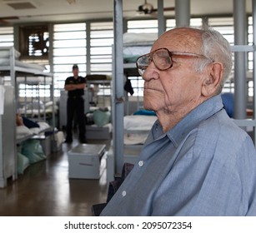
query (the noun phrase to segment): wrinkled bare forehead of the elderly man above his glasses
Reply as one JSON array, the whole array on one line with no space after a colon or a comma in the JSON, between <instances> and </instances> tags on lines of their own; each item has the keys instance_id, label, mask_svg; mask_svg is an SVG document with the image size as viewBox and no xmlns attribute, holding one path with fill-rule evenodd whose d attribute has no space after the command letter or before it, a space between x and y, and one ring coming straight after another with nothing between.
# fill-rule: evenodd
<instances>
[{"instance_id":1,"label":"wrinkled bare forehead of the elderly man above his glasses","mask_svg":"<svg viewBox=\"0 0 256 233\"><path fill-rule=\"evenodd\" d=\"M170 51L200 53L202 32L199 29L180 27L164 32L153 43L151 51L167 47Z\"/></svg>"}]
</instances>

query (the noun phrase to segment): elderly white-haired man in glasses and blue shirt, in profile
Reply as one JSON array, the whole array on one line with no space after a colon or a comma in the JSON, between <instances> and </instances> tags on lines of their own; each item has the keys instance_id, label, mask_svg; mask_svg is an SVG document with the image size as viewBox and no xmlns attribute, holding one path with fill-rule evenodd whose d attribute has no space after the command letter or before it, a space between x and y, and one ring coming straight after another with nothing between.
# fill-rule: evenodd
<instances>
[{"instance_id":1,"label":"elderly white-haired man in glasses and blue shirt, in profile","mask_svg":"<svg viewBox=\"0 0 256 233\"><path fill-rule=\"evenodd\" d=\"M178 27L137 67L158 121L102 216L256 216L255 147L220 97L228 42L207 27Z\"/></svg>"}]
</instances>

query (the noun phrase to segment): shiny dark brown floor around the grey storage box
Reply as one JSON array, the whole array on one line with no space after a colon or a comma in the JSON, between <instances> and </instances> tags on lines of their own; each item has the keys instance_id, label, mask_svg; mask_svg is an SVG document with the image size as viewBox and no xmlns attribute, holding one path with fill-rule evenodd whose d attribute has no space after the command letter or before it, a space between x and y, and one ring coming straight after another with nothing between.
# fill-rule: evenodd
<instances>
[{"instance_id":1,"label":"shiny dark brown floor around the grey storage box","mask_svg":"<svg viewBox=\"0 0 256 233\"><path fill-rule=\"evenodd\" d=\"M68 179L67 152L77 144L63 144L62 151L28 166L17 181L0 188L0 216L92 216L91 206L107 199L106 167L99 180Z\"/></svg>"}]
</instances>

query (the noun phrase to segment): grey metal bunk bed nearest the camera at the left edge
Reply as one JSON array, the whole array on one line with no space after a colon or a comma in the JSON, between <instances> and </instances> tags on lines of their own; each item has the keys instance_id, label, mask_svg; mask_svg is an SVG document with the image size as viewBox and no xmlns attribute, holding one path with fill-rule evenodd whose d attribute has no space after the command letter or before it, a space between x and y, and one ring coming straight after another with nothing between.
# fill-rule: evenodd
<instances>
[{"instance_id":1,"label":"grey metal bunk bed nearest the camera at the left edge","mask_svg":"<svg viewBox=\"0 0 256 233\"><path fill-rule=\"evenodd\" d=\"M24 77L26 80L52 77L52 74L43 72L44 67L42 66L19 61L19 55L14 47L0 47L0 86L5 90L3 91L4 101L2 102L3 115L0 116L0 187L7 186L9 177L13 177L13 180L18 178L18 143L33 138L42 131L52 130L51 126L44 126L42 131L34 131L29 135L17 137L18 83ZM53 78L51 80L53 87ZM53 90L51 90L51 97L54 102ZM55 124L54 114L52 122Z\"/></svg>"}]
</instances>

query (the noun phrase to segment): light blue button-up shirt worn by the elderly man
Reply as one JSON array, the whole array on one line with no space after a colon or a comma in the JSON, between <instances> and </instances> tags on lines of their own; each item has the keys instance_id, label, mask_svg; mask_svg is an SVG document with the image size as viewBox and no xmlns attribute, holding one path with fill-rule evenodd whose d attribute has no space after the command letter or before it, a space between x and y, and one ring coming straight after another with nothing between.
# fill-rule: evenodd
<instances>
[{"instance_id":1,"label":"light blue button-up shirt worn by the elderly man","mask_svg":"<svg viewBox=\"0 0 256 233\"><path fill-rule=\"evenodd\" d=\"M256 216L253 141L220 96L167 133L156 121L102 216Z\"/></svg>"}]
</instances>

